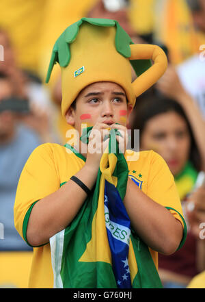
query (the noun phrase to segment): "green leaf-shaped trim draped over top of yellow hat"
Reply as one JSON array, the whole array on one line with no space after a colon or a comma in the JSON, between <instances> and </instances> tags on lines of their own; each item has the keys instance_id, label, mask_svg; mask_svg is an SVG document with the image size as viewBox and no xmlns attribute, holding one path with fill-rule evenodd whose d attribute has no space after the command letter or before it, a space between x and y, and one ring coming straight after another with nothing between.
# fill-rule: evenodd
<instances>
[{"instance_id":1,"label":"green leaf-shaped trim draped over top of yellow hat","mask_svg":"<svg viewBox=\"0 0 205 302\"><path fill-rule=\"evenodd\" d=\"M53 66L56 64L56 62L58 62L61 67L68 66L71 57L69 45L72 42L74 42L74 40L76 39L77 34L79 32L79 27L83 22L87 22L97 26L104 26L104 27L116 26L116 34L115 34L116 50L125 58L129 58L131 56L131 48L129 45L133 44L133 41L131 40L131 37L128 36L128 34L120 26L118 21L105 19L105 18L81 18L81 20L67 27L55 42L51 54L51 60L49 63L48 72L46 75L46 83L49 82L49 79L51 77L51 72L53 70ZM143 60L143 61L147 61L148 68L146 66L145 68L143 68L143 70L139 71L139 66L137 61L141 61L141 60L131 61L131 64L133 65L133 68L135 69L137 75L140 75L141 73L143 73L143 71L146 71L146 69L148 69L151 65L149 60ZM144 64L142 64L142 67L144 67Z\"/></svg>"}]
</instances>

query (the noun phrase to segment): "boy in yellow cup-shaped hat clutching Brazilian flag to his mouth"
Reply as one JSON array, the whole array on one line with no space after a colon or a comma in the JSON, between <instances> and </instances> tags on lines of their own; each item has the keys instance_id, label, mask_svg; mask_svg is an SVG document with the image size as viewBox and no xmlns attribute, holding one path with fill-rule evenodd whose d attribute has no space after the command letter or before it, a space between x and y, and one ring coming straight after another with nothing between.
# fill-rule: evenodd
<instances>
[{"instance_id":1,"label":"boy in yellow cup-shaped hat clutching Brazilian flag to his mouth","mask_svg":"<svg viewBox=\"0 0 205 302\"><path fill-rule=\"evenodd\" d=\"M14 220L34 247L29 286L161 287L157 252L185 238L180 199L161 156L124 149L135 99L163 75L165 54L133 45L116 21L82 18L55 43L46 81L55 62L76 136L42 144L20 176Z\"/></svg>"}]
</instances>

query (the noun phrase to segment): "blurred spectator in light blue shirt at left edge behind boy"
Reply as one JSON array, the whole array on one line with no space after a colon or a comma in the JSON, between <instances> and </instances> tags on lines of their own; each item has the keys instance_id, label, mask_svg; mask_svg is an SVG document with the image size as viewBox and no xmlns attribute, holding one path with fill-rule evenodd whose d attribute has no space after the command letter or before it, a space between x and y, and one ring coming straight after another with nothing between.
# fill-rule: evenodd
<instances>
[{"instance_id":1,"label":"blurred spectator in light blue shirt at left edge behind boy","mask_svg":"<svg viewBox=\"0 0 205 302\"><path fill-rule=\"evenodd\" d=\"M4 239L0 251L28 250L14 227L14 199L20 173L29 155L41 144L36 132L20 123L21 114L14 111L13 79L0 74L0 222ZM19 102L26 102L20 100Z\"/></svg>"}]
</instances>

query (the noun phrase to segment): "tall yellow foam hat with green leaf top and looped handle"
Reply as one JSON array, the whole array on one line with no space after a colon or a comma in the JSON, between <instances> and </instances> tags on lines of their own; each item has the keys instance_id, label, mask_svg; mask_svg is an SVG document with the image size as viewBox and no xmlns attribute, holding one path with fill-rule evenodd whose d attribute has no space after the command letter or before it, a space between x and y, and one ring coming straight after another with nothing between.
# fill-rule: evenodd
<instances>
[{"instance_id":1,"label":"tall yellow foam hat with green leaf top and looped handle","mask_svg":"<svg viewBox=\"0 0 205 302\"><path fill-rule=\"evenodd\" d=\"M117 21L100 18L81 18L61 34L53 47L46 82L56 62L61 66L64 116L79 92L98 81L122 86L128 103L134 106L136 97L150 88L167 68L167 58L160 47L134 45ZM137 74L133 83L131 66Z\"/></svg>"}]
</instances>

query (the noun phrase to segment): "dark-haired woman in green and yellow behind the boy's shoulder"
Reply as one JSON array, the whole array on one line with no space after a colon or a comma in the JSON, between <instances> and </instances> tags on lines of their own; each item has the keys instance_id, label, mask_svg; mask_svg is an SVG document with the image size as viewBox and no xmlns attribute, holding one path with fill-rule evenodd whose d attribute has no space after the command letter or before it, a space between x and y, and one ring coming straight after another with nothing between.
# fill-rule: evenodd
<instances>
[{"instance_id":1,"label":"dark-haired woman in green and yellow behind the boy's shoulder","mask_svg":"<svg viewBox=\"0 0 205 302\"><path fill-rule=\"evenodd\" d=\"M200 153L204 127L196 135L198 129L194 124L198 120L203 125L202 116L195 109L196 121L191 124L177 101L153 95L139 99L130 127L139 129L141 150L154 149L167 162L174 175L184 210L197 175L204 166ZM185 212L184 210L184 214ZM197 266L199 238L190 231L187 218L185 220L188 234L184 247L173 255L159 255L159 273L165 288L185 288L191 278L203 270Z\"/></svg>"}]
</instances>

